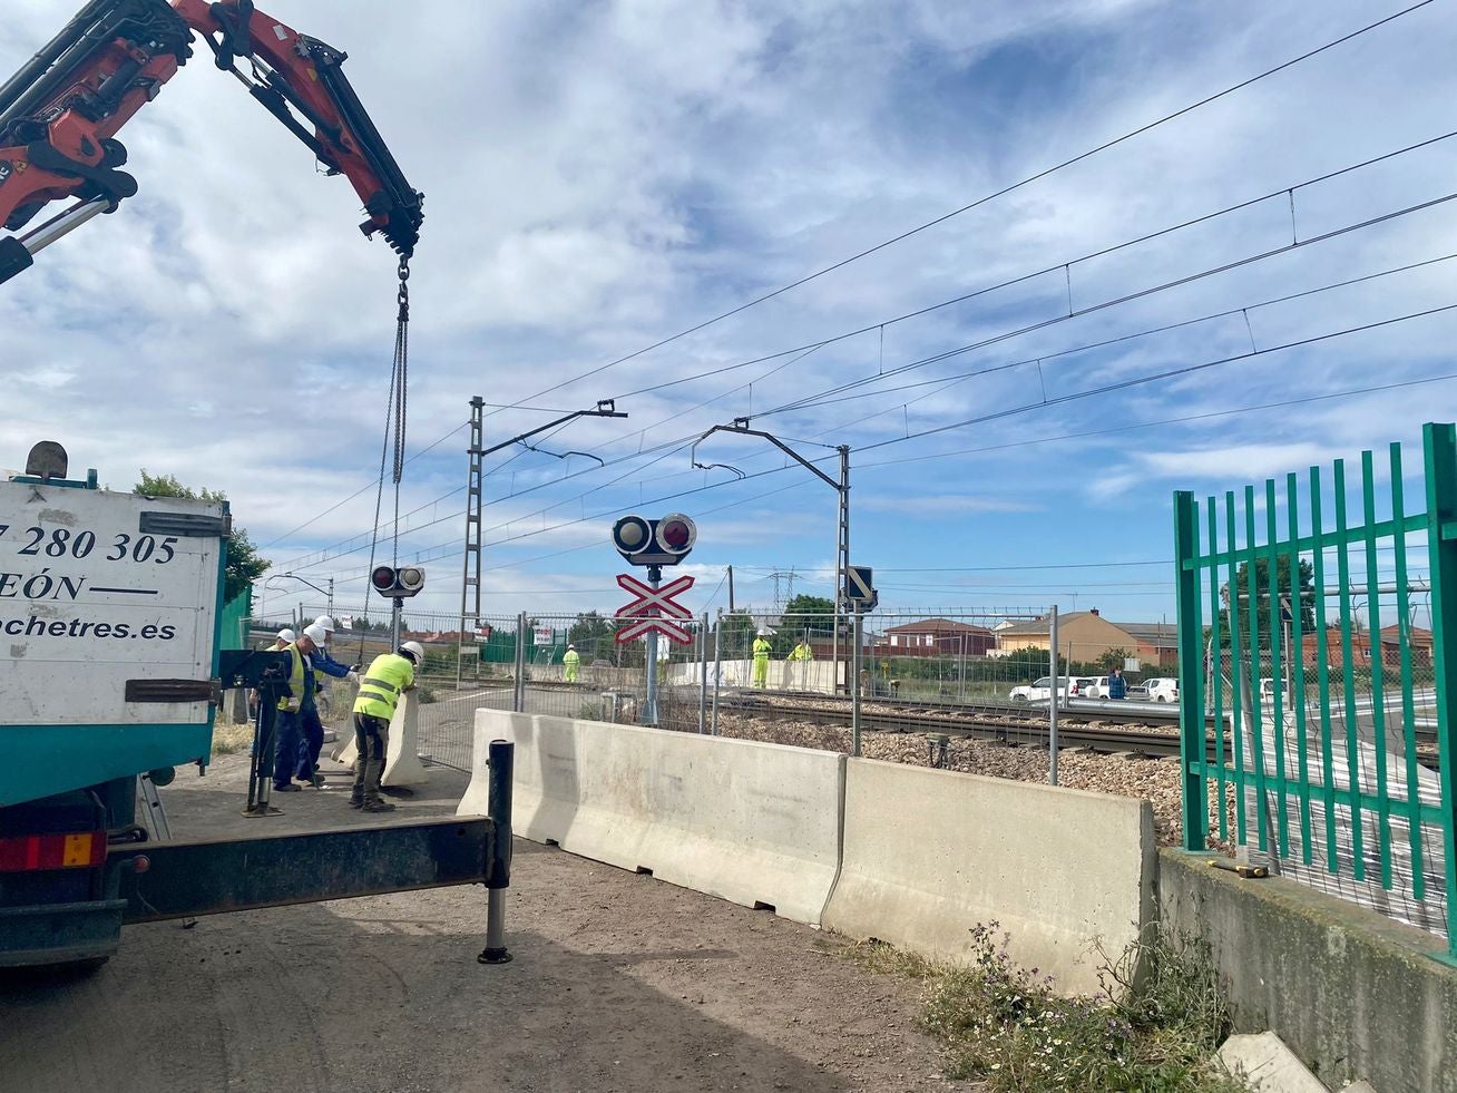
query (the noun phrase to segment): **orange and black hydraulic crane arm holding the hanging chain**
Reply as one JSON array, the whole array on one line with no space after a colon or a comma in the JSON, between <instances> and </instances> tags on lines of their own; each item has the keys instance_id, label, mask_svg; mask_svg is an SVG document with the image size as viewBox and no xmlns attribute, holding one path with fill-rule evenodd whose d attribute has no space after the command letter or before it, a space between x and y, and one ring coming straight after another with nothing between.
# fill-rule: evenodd
<instances>
[{"instance_id":1,"label":"orange and black hydraulic crane arm holding the hanging chain","mask_svg":"<svg viewBox=\"0 0 1457 1093\"><path fill-rule=\"evenodd\" d=\"M353 184L402 262L415 249L424 195L380 138L341 68L345 54L256 10L252 0L90 0L0 85L0 226L20 232L52 201L68 208L0 238L0 281L98 213L137 192L117 131L192 55L192 32L328 173ZM240 67L246 66L246 71Z\"/></svg>"}]
</instances>

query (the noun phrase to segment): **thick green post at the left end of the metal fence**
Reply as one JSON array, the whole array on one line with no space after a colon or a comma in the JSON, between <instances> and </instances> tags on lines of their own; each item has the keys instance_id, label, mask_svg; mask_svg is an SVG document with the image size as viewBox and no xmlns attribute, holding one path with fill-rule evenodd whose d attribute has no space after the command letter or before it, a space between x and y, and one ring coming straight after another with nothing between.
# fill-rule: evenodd
<instances>
[{"instance_id":1,"label":"thick green post at the left end of the metal fence","mask_svg":"<svg viewBox=\"0 0 1457 1093\"><path fill-rule=\"evenodd\" d=\"M1199 510L1193 494L1174 494L1174 567L1179 616L1179 762L1183 772L1185 850L1209 839L1208 743L1203 721L1202 627L1199 625ZM1222 807L1222 803L1221 803Z\"/></svg>"}]
</instances>

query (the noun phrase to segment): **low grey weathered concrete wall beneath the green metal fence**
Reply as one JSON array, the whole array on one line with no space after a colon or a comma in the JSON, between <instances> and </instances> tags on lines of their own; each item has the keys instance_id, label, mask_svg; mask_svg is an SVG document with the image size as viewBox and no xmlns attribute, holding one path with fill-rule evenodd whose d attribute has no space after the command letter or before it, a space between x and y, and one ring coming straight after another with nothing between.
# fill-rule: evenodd
<instances>
[{"instance_id":1,"label":"low grey weathered concrete wall beneath the green metal fence","mask_svg":"<svg viewBox=\"0 0 1457 1093\"><path fill-rule=\"evenodd\" d=\"M1332 1089L1457 1093L1457 968L1432 959L1440 937L1208 860L1160 854L1160 909L1209 939L1240 1032L1273 1029Z\"/></svg>"}]
</instances>

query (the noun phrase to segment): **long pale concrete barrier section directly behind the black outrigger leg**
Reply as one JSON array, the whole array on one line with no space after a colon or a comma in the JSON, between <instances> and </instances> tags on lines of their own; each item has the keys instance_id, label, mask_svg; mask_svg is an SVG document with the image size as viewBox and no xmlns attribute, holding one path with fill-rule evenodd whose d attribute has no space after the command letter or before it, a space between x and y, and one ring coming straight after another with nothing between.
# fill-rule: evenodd
<instances>
[{"instance_id":1,"label":"long pale concrete barrier section directly behind the black outrigger leg","mask_svg":"<svg viewBox=\"0 0 1457 1093\"><path fill-rule=\"evenodd\" d=\"M819 924L839 866L845 756L478 710L462 815L485 809L497 737L516 743L517 835Z\"/></svg>"}]
</instances>

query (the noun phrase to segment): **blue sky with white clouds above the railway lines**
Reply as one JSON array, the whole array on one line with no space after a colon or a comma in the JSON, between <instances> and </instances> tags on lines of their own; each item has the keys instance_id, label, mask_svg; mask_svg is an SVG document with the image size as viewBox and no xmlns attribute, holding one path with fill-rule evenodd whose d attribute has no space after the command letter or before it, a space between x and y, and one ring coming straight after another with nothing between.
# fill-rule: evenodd
<instances>
[{"instance_id":1,"label":"blue sky with white clouds above the railway lines","mask_svg":"<svg viewBox=\"0 0 1457 1093\"><path fill-rule=\"evenodd\" d=\"M727 605L730 564L740 605L787 595L774 573L829 595L829 487L752 439L691 465L750 415L830 474L851 447L852 554L887 608L1171 616L1174 490L1454 417L1457 312L1407 316L1457 305L1457 201L1409 211L1453 194L1457 137L1403 150L1457 128L1457 13L991 195L1405 6L270 0L348 51L425 192L398 542L418 606L459 605L481 395L488 444L599 399L631 415L488 461L490 615L615 608L608 530L637 510L696 516L695 609ZM0 71L68 10L9 0ZM112 487L224 490L274 573L332 577L350 614L393 256L203 52L121 134L141 192L0 290L0 465L50 437ZM386 488L383 554L392 513Z\"/></svg>"}]
</instances>

